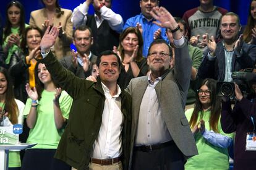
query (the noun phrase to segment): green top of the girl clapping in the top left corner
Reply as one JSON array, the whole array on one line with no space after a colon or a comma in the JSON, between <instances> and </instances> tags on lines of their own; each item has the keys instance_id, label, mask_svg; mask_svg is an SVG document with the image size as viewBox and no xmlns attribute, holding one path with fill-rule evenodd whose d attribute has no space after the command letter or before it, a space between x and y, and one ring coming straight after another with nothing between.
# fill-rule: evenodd
<instances>
[{"instance_id":1,"label":"green top of the girl clapping in the top left corner","mask_svg":"<svg viewBox=\"0 0 256 170\"><path fill-rule=\"evenodd\" d=\"M28 27L28 25L25 23L25 27ZM14 33L14 34L20 34L20 27L17 27L17 28L11 28L11 34ZM11 35L10 34L10 35ZM10 36L9 35L9 36ZM3 48L6 47L7 45L7 41L8 41L8 38L9 36L6 37L6 40L4 40L4 44L3 44ZM4 37L4 36L3 36ZM20 35L20 42L21 42L22 38L21 38L21 35ZM11 59L11 56L12 54L17 51L17 50L20 50L19 46L17 45L12 45L9 49L8 49L8 54L7 54L7 58L6 58L6 64L9 64L10 63L10 59Z\"/></svg>"}]
</instances>

